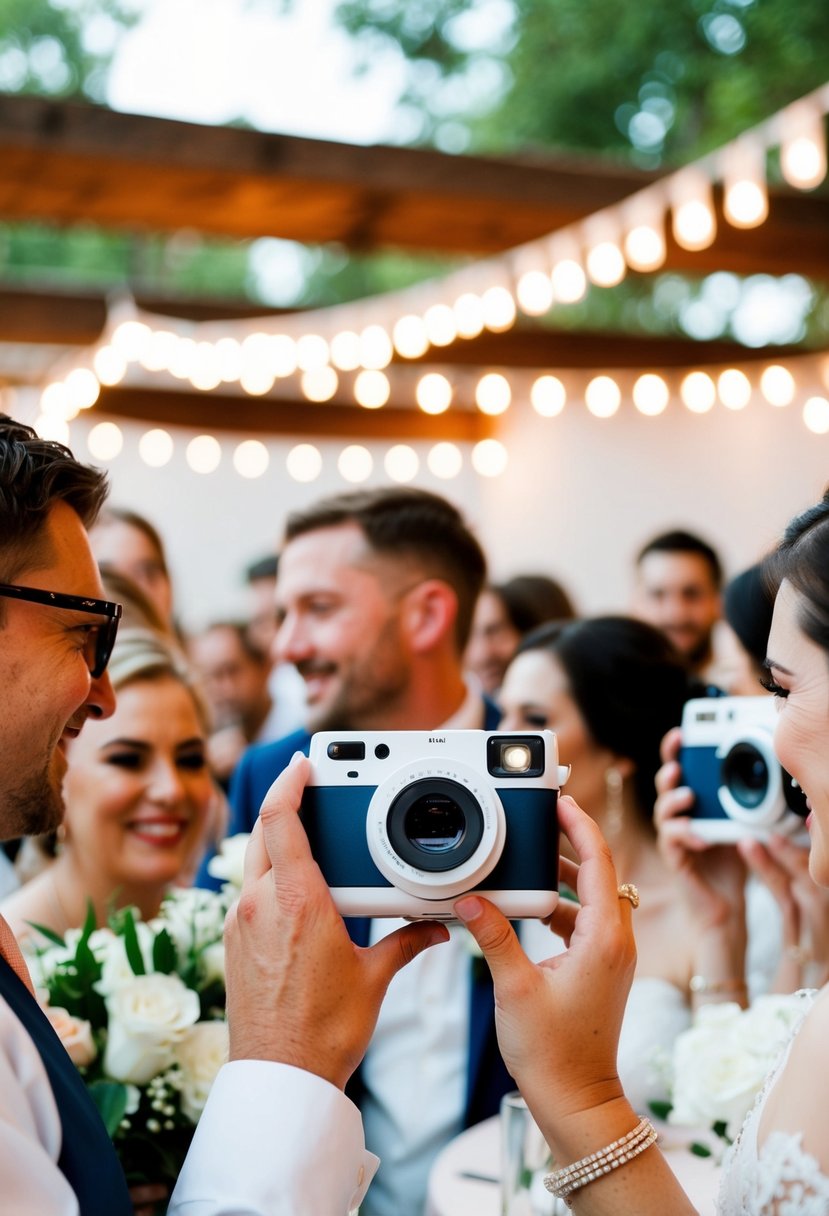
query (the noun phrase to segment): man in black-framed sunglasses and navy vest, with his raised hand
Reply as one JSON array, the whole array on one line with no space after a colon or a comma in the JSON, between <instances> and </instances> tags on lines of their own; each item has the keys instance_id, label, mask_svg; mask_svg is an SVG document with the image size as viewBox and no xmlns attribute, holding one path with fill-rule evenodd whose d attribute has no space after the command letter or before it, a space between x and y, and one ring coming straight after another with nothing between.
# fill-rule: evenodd
<instances>
[{"instance_id":1,"label":"man in black-framed sunglasses and navy vest, with his raised hand","mask_svg":"<svg viewBox=\"0 0 829 1216\"><path fill-rule=\"evenodd\" d=\"M106 491L103 474L0 416L0 838L57 827L64 742L114 709L106 665L120 607L101 598L86 537ZM351 946L295 814L305 773L301 760L269 793L229 914L231 1063L170 1212L334 1216L377 1167L342 1091L393 975L446 931L410 925ZM1 917L0 1197L15 1216L131 1216L148 1198L130 1197Z\"/></svg>"}]
</instances>

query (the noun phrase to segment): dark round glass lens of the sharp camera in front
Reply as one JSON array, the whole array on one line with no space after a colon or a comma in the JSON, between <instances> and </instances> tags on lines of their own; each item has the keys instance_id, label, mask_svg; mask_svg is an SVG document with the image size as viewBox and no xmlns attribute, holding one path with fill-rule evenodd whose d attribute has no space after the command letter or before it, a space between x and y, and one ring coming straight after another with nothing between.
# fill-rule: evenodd
<instances>
[{"instance_id":1,"label":"dark round glass lens of the sharp camera in front","mask_svg":"<svg viewBox=\"0 0 829 1216\"><path fill-rule=\"evenodd\" d=\"M445 777L422 778L391 800L387 817L389 844L417 869L457 869L472 857L484 835L484 812L474 794Z\"/></svg>"}]
</instances>

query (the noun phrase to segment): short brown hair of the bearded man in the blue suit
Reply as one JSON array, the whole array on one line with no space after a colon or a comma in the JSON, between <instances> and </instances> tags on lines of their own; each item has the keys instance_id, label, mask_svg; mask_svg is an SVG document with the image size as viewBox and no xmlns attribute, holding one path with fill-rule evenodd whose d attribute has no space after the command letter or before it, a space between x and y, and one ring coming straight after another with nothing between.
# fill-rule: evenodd
<instances>
[{"instance_id":1,"label":"short brown hair of the bearded man in the blue suit","mask_svg":"<svg viewBox=\"0 0 829 1216\"><path fill-rule=\"evenodd\" d=\"M425 575L452 587L458 601L456 642L463 651L486 578L486 558L461 512L440 495L412 486L355 490L293 512L286 524L286 541L348 523L357 524L376 553L413 559Z\"/></svg>"}]
</instances>

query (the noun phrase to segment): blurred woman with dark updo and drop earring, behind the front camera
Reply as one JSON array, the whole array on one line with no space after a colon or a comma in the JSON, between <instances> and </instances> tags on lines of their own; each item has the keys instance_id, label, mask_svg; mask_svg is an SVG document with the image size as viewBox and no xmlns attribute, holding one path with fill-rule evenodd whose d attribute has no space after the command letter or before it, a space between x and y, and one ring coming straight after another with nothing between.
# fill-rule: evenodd
<instances>
[{"instance_id":1,"label":"blurred woman with dark updo and drop earring, behind the front camera","mask_svg":"<svg viewBox=\"0 0 829 1216\"><path fill-rule=\"evenodd\" d=\"M694 975L707 941L662 861L653 822L659 745L679 722L686 666L664 634L630 617L546 625L529 634L501 688L501 730L556 732L566 792L599 824L616 867L642 894L637 969L619 1047L619 1070L643 1109L666 1098L664 1068L690 1021ZM546 957L548 940L520 927L524 948Z\"/></svg>"}]
</instances>

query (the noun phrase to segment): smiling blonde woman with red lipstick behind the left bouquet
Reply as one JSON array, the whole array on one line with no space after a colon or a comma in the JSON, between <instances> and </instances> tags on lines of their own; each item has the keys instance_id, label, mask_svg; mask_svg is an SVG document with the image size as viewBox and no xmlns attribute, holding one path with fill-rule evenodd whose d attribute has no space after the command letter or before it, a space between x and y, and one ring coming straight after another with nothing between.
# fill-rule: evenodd
<instances>
[{"instance_id":1,"label":"smiling blonde woman with red lipstick behind the left bouquet","mask_svg":"<svg viewBox=\"0 0 829 1216\"><path fill-rule=\"evenodd\" d=\"M57 933L98 924L115 907L156 916L187 882L204 844L216 790L205 759L205 710L184 659L148 630L124 630L109 675L109 719L66 742L66 815L56 858L2 905L18 936L27 923Z\"/></svg>"}]
</instances>

